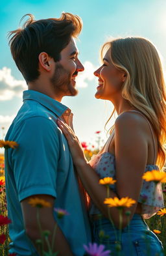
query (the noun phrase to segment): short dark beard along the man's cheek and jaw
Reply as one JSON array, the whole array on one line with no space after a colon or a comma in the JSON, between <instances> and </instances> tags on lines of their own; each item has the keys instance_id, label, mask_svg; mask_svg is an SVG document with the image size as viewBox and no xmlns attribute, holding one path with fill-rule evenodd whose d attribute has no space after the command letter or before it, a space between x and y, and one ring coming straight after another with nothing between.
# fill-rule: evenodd
<instances>
[{"instance_id":1,"label":"short dark beard along the man's cheek and jaw","mask_svg":"<svg viewBox=\"0 0 166 256\"><path fill-rule=\"evenodd\" d=\"M78 94L77 89L71 83L71 74L60 63L56 63L56 68L50 81L57 95L75 96Z\"/></svg>"}]
</instances>

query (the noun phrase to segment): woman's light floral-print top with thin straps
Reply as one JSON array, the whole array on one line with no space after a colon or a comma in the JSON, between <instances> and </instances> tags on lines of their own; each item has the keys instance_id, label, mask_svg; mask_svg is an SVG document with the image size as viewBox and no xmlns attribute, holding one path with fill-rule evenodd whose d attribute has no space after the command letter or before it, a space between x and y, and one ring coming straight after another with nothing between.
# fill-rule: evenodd
<instances>
[{"instance_id":1,"label":"woman's light floral-print top with thin straps","mask_svg":"<svg viewBox=\"0 0 166 256\"><path fill-rule=\"evenodd\" d=\"M100 178L112 177L113 179L116 179L115 156L108 152L108 147L112 137L113 134L110 135L101 152L93 155L89 161L89 164L93 169L95 169ZM157 165L146 165L145 172L152 170L159 170L159 168ZM116 184L110 185L110 188L113 192L116 192ZM156 214L158 210L164 207L161 183L159 182L156 185L153 181L147 182L143 180L138 202L142 205L141 214L143 219L148 219ZM93 204L93 202L91 202L89 214L100 213L99 209Z\"/></svg>"}]
</instances>

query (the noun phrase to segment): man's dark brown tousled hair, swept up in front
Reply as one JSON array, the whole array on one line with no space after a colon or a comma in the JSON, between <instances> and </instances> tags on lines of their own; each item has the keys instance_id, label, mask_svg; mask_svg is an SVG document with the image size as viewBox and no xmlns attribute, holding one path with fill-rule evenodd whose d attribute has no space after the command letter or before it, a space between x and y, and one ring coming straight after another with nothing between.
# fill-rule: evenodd
<instances>
[{"instance_id":1,"label":"man's dark brown tousled hair, swept up in front","mask_svg":"<svg viewBox=\"0 0 166 256\"><path fill-rule=\"evenodd\" d=\"M60 18L38 21L32 14L25 16L29 16L29 20L23 28L10 31L8 37L12 57L25 80L30 82L40 76L39 54L44 51L55 62L60 61L60 52L69 44L71 36L77 37L82 30L82 20L67 12L62 13Z\"/></svg>"}]
</instances>

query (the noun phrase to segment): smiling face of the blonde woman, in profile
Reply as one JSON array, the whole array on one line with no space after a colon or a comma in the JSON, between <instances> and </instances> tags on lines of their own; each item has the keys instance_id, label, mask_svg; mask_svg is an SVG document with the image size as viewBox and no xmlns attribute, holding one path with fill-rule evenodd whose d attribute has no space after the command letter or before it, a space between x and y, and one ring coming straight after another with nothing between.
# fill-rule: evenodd
<instances>
[{"instance_id":1,"label":"smiling face of the blonde woman, in profile","mask_svg":"<svg viewBox=\"0 0 166 256\"><path fill-rule=\"evenodd\" d=\"M109 50L103 58L102 66L94 72L94 75L99 78L95 98L113 100L121 93L121 87L125 81L125 72L113 66L109 57Z\"/></svg>"}]
</instances>

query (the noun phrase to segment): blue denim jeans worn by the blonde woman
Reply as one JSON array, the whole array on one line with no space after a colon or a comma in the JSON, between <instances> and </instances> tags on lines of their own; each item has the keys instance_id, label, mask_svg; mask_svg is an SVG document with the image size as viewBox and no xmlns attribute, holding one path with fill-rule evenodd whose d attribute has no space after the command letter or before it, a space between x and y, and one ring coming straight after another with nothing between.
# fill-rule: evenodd
<instances>
[{"instance_id":1,"label":"blue denim jeans worn by the blonde woman","mask_svg":"<svg viewBox=\"0 0 166 256\"><path fill-rule=\"evenodd\" d=\"M139 214L134 214L128 227L122 231L114 230L106 218L91 220L91 226L93 242L104 244L112 256L163 256L160 240Z\"/></svg>"}]
</instances>

